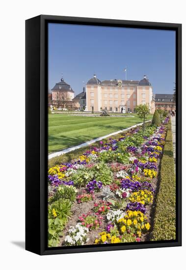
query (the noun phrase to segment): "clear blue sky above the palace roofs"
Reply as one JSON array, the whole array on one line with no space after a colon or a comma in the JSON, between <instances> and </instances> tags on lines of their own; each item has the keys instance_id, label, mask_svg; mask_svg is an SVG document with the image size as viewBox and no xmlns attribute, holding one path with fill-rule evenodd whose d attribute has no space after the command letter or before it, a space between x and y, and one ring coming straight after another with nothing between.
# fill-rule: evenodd
<instances>
[{"instance_id":1,"label":"clear blue sky above the palace roofs","mask_svg":"<svg viewBox=\"0 0 186 270\"><path fill-rule=\"evenodd\" d=\"M93 74L125 80L126 66L127 80L147 75L154 94L172 94L175 31L49 24L49 89L62 74L75 94Z\"/></svg>"}]
</instances>

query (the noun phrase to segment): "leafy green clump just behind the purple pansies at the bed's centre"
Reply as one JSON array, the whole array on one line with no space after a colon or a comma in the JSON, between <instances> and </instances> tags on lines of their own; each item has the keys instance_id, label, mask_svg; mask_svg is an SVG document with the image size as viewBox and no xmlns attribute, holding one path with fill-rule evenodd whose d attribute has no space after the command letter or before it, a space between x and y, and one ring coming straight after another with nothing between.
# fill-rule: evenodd
<instances>
[{"instance_id":1,"label":"leafy green clump just behind the purple pansies at the bed's centre","mask_svg":"<svg viewBox=\"0 0 186 270\"><path fill-rule=\"evenodd\" d=\"M103 185L109 185L113 181L113 173L104 162L95 164L90 171L93 178L96 181L101 181Z\"/></svg>"}]
</instances>

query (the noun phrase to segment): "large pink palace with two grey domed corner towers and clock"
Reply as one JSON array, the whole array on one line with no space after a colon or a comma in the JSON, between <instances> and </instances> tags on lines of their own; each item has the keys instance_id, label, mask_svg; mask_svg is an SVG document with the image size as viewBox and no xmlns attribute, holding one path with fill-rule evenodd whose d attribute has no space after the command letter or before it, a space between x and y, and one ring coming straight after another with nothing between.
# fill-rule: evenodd
<instances>
[{"instance_id":1,"label":"large pink palace with two grey domed corner towers and clock","mask_svg":"<svg viewBox=\"0 0 186 270\"><path fill-rule=\"evenodd\" d=\"M141 81L100 81L96 75L87 81L87 111L135 112L139 104L148 104L151 113L154 113L153 87L145 75Z\"/></svg>"}]
</instances>

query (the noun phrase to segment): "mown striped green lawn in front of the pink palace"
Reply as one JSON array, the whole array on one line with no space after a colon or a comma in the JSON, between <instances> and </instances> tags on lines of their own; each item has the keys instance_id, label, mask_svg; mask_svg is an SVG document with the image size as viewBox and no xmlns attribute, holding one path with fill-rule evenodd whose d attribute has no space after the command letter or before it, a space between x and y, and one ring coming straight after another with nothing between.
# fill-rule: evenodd
<instances>
[{"instance_id":1,"label":"mown striped green lawn in front of the pink palace","mask_svg":"<svg viewBox=\"0 0 186 270\"><path fill-rule=\"evenodd\" d=\"M153 115L148 115L147 120ZM134 117L92 117L49 114L49 153L126 129L142 120Z\"/></svg>"}]
</instances>

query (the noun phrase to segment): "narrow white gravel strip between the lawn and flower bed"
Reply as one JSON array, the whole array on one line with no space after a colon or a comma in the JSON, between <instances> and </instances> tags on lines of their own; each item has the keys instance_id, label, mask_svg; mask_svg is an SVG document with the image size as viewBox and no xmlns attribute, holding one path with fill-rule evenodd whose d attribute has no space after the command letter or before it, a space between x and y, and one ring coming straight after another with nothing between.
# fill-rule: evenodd
<instances>
[{"instance_id":1,"label":"narrow white gravel strip between the lawn and flower bed","mask_svg":"<svg viewBox=\"0 0 186 270\"><path fill-rule=\"evenodd\" d=\"M152 121L152 120L145 121L145 123L150 122L150 121ZM127 130L130 130L130 129L132 129L132 128L136 128L137 126L141 126L142 124L143 124L143 123L140 123L140 124L131 126L131 127L127 128L127 129L119 130L119 131L110 133L110 134L108 134L108 135L105 135L105 136L96 138L96 139L94 139L94 140L90 140L90 141L81 143L80 145L73 146L73 147L70 147L70 148L67 148L67 149L64 149L64 150L55 152L55 153L53 153L53 154L48 155L48 159L50 160L50 159L55 158L55 157L58 157L58 156L60 156L60 155L63 155L63 154L72 152L72 151L74 151L74 150L76 150L76 149L80 149L81 147L88 146L88 145L90 145L90 144L92 144L92 143L94 143L94 142L96 142L96 141L105 139L105 138L107 138L107 137L109 137L109 136L113 136L113 135L116 135L116 134L118 134L118 133L122 133L122 132L127 131Z\"/></svg>"}]
</instances>

